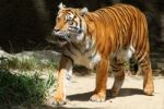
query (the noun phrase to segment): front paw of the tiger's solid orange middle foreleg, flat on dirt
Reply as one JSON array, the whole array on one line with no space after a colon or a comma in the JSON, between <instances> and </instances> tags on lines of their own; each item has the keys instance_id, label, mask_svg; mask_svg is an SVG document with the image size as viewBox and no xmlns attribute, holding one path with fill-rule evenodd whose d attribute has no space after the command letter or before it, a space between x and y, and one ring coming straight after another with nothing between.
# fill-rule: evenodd
<instances>
[{"instance_id":1,"label":"front paw of the tiger's solid orange middle foreleg, flat on dirt","mask_svg":"<svg viewBox=\"0 0 164 109\"><path fill-rule=\"evenodd\" d=\"M91 101L97 101L97 102L103 102L103 101L105 101L105 99L106 99L106 94L101 94L101 93L94 94L90 98Z\"/></svg>"}]
</instances>

